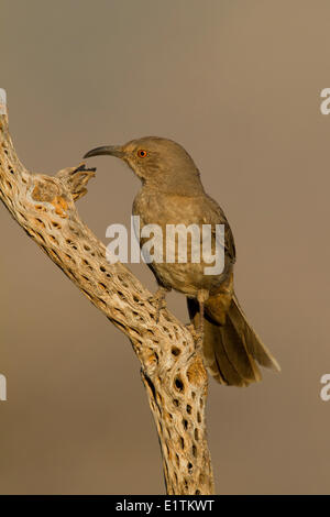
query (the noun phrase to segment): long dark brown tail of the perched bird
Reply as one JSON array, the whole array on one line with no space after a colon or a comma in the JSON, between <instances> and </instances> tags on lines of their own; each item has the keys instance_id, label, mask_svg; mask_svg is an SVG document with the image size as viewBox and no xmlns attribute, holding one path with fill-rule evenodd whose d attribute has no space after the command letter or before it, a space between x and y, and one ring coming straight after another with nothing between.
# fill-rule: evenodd
<instances>
[{"instance_id":1,"label":"long dark brown tail of the perched bird","mask_svg":"<svg viewBox=\"0 0 330 517\"><path fill-rule=\"evenodd\" d=\"M199 326L199 306L187 298L190 319ZM220 318L221 320L222 318ZM249 324L235 295L222 322L208 311L206 304L204 321L204 358L210 374L221 384L249 386L261 381L258 365L280 371L276 359Z\"/></svg>"}]
</instances>

